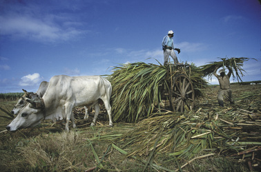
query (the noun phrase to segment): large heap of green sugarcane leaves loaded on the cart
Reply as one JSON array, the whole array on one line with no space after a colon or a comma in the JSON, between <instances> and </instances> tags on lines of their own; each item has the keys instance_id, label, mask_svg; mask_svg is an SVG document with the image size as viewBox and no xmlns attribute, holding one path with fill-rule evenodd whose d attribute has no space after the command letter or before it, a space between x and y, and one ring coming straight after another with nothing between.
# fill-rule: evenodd
<instances>
[{"instance_id":1,"label":"large heap of green sugarcane leaves loaded on the cart","mask_svg":"<svg viewBox=\"0 0 261 172\"><path fill-rule=\"evenodd\" d=\"M170 72L171 69L171 72ZM197 74L198 67L191 67L191 80L195 87L195 97L200 98L202 88L207 83ZM128 63L115 67L109 80L113 87L111 104L113 120L137 122L148 117L155 109L160 109L162 94L169 92L171 78L175 74L186 74L184 67Z\"/></svg>"}]
</instances>

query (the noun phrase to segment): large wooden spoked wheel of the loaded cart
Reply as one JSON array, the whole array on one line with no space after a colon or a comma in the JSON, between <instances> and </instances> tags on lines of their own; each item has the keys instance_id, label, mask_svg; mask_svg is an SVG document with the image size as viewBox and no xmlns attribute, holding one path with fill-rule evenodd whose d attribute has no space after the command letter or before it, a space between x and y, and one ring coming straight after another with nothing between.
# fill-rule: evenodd
<instances>
[{"instance_id":1,"label":"large wooden spoked wheel of the loaded cart","mask_svg":"<svg viewBox=\"0 0 261 172\"><path fill-rule=\"evenodd\" d=\"M173 111L191 111L194 107L195 92L189 77L185 74L174 76L169 96Z\"/></svg>"}]
</instances>

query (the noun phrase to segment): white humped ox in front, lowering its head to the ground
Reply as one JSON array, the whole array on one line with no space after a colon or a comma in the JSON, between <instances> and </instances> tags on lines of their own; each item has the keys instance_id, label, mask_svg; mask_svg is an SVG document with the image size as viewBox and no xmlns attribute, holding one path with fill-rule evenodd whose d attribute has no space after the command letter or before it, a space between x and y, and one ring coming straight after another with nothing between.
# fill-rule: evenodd
<instances>
[{"instance_id":1,"label":"white humped ox in front, lowering its head to the ground","mask_svg":"<svg viewBox=\"0 0 261 172\"><path fill-rule=\"evenodd\" d=\"M50 79L46 93L42 98L35 100L26 98L28 105L19 111L14 120L6 127L9 131L16 131L26 127L35 127L42 119L66 119L66 131L69 130L68 122L72 120L73 128L76 127L73 107L92 106L95 117L91 125L95 125L99 114L99 100L102 100L108 112L109 125L113 126L111 118L110 82L100 76L53 76Z\"/></svg>"}]
</instances>

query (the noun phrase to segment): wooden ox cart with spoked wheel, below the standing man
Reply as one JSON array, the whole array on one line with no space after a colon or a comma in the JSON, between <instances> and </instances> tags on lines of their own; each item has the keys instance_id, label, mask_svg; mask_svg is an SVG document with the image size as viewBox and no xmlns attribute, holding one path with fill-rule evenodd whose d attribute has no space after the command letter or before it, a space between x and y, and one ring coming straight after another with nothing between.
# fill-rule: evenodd
<instances>
[{"instance_id":1,"label":"wooden ox cart with spoked wheel, below the standing man","mask_svg":"<svg viewBox=\"0 0 261 172\"><path fill-rule=\"evenodd\" d=\"M191 82L191 65L169 64L166 80L168 89L163 92L162 102L173 111L189 111L194 107L195 91Z\"/></svg>"}]
</instances>

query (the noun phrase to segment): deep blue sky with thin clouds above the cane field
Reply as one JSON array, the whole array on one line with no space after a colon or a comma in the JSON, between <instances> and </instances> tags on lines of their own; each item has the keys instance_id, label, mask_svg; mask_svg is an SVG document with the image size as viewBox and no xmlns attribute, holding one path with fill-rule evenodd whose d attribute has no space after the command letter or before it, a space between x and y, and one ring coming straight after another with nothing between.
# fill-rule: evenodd
<instances>
[{"instance_id":1,"label":"deep blue sky with thin clouds above the cane field","mask_svg":"<svg viewBox=\"0 0 261 172\"><path fill-rule=\"evenodd\" d=\"M168 30L175 32L179 61L200 66L218 57L256 58L244 63L242 80L261 80L258 0L0 0L0 14L1 93L36 92L59 74L163 63Z\"/></svg>"}]
</instances>

